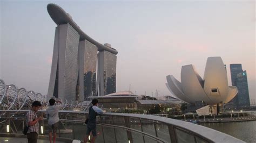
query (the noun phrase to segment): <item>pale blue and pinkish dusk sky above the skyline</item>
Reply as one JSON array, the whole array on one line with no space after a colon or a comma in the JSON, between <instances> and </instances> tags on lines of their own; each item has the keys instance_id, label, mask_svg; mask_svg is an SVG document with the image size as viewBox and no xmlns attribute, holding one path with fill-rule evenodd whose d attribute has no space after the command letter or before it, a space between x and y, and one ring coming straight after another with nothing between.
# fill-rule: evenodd
<instances>
[{"instance_id":1,"label":"pale blue and pinkish dusk sky above the skyline","mask_svg":"<svg viewBox=\"0 0 256 143\"><path fill-rule=\"evenodd\" d=\"M117 49L117 91L171 95L166 76L181 66L204 77L206 60L221 56L247 71L256 98L255 1L0 1L0 78L45 95L56 24L46 6L68 12L91 38Z\"/></svg>"}]
</instances>

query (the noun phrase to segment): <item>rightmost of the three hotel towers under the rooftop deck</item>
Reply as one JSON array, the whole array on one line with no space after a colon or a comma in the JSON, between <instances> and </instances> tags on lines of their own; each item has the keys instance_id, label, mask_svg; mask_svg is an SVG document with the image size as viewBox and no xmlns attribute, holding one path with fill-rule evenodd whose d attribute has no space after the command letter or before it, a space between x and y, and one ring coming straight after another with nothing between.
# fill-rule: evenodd
<instances>
[{"instance_id":1,"label":"rightmost of the three hotel towers under the rooftop deck","mask_svg":"<svg viewBox=\"0 0 256 143\"><path fill-rule=\"evenodd\" d=\"M107 51L98 53L98 73L96 92L104 96L116 92L117 56Z\"/></svg>"}]
</instances>

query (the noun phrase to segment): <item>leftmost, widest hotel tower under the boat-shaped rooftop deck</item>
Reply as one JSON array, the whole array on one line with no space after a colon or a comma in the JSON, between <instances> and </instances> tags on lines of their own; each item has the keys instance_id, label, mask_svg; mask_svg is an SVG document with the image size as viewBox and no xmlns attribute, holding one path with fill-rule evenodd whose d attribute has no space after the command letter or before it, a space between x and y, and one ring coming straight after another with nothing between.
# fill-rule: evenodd
<instances>
[{"instance_id":1,"label":"leftmost, widest hotel tower under the boat-shaped rooftop deck","mask_svg":"<svg viewBox=\"0 0 256 143\"><path fill-rule=\"evenodd\" d=\"M48 95L76 100L79 34L69 24L55 30Z\"/></svg>"}]
</instances>

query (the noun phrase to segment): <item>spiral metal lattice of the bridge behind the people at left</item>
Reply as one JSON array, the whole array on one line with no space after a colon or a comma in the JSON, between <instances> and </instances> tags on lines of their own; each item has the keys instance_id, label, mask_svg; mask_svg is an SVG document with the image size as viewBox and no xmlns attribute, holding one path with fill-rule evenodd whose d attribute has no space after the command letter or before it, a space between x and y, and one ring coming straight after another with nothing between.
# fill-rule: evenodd
<instances>
[{"instance_id":1,"label":"spiral metal lattice of the bridge behind the people at left","mask_svg":"<svg viewBox=\"0 0 256 143\"><path fill-rule=\"evenodd\" d=\"M35 91L27 91L25 88L18 88L14 84L6 85L4 80L0 79L0 110L27 110L31 108L33 101L39 101L42 104L42 110L45 110L49 104L49 99L53 96L42 95ZM56 99L56 98L55 98ZM58 99L56 99L58 100ZM73 102L64 99L62 110L84 111L88 102Z\"/></svg>"}]
</instances>

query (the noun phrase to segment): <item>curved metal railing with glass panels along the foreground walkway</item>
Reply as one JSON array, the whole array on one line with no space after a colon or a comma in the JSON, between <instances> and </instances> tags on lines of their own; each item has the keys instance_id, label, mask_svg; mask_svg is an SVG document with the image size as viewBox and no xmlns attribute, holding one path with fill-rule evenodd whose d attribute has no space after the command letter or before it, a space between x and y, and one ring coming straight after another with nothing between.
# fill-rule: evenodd
<instances>
[{"instance_id":1,"label":"curved metal railing with glass panels along the foreground walkway","mask_svg":"<svg viewBox=\"0 0 256 143\"><path fill-rule=\"evenodd\" d=\"M0 133L21 134L29 110L0 110ZM39 111L38 116L44 116ZM59 111L58 137L83 140L87 112ZM48 121L40 121L41 135L47 135ZM204 126L153 115L104 113L97 117L96 142L244 142ZM7 132L9 129L9 132Z\"/></svg>"}]
</instances>

